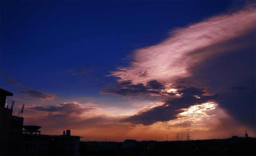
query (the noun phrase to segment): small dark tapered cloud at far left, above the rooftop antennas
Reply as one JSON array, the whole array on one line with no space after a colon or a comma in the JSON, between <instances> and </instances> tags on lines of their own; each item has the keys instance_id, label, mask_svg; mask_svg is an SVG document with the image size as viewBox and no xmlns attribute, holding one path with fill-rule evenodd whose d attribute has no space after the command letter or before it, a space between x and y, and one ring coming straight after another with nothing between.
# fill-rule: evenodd
<instances>
[{"instance_id":1,"label":"small dark tapered cloud at far left, above the rooftop antennas","mask_svg":"<svg viewBox=\"0 0 256 156\"><path fill-rule=\"evenodd\" d=\"M20 91L19 93L25 93L27 96L35 98L35 99L40 99L40 100L53 100L54 99L54 94L47 94L41 91L33 90L33 89L28 89L28 88L23 88L24 91Z\"/></svg>"}]
</instances>

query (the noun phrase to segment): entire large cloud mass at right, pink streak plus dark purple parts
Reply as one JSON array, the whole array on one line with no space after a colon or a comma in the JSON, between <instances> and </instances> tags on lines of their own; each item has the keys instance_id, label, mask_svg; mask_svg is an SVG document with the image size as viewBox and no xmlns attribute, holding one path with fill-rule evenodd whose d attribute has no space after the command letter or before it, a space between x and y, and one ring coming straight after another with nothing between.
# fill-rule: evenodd
<instances>
[{"instance_id":1,"label":"entire large cloud mass at right, pink streak plus dark purple parts","mask_svg":"<svg viewBox=\"0 0 256 156\"><path fill-rule=\"evenodd\" d=\"M255 107L255 41L255 6L250 3L177 28L160 44L135 50L130 66L109 75L119 78L118 84L100 93L164 103L121 122L152 125L176 119L190 106L217 101L235 118L250 116L248 125L255 129L255 111L239 108L243 100ZM235 98L237 102L230 100Z\"/></svg>"}]
</instances>

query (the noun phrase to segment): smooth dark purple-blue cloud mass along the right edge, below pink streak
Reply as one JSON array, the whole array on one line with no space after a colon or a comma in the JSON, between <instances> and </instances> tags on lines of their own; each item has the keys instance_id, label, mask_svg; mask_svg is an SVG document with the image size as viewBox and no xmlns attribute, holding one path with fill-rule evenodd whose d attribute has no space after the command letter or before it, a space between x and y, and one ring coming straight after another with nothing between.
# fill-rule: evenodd
<instances>
[{"instance_id":1,"label":"smooth dark purple-blue cloud mass along the right edge, below pink streak","mask_svg":"<svg viewBox=\"0 0 256 156\"><path fill-rule=\"evenodd\" d=\"M208 58L191 68L190 79L209 80L209 93L220 93L217 99L219 106L240 124L256 128L256 38L255 30L242 37L216 45L223 49L221 55ZM233 49L236 45L242 48ZM209 48L212 49L212 48Z\"/></svg>"}]
</instances>

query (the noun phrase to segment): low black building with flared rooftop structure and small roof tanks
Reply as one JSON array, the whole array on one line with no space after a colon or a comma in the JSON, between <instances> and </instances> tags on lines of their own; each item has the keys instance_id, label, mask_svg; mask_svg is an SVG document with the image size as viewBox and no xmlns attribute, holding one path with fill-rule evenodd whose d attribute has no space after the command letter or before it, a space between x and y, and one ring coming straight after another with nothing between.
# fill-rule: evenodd
<instances>
[{"instance_id":1,"label":"low black building with flared rooftop structure and small roof tanks","mask_svg":"<svg viewBox=\"0 0 256 156\"><path fill-rule=\"evenodd\" d=\"M63 135L42 135L40 126L23 126L21 155L79 155L80 136L71 136L70 130ZM38 134L37 134L38 133Z\"/></svg>"}]
</instances>

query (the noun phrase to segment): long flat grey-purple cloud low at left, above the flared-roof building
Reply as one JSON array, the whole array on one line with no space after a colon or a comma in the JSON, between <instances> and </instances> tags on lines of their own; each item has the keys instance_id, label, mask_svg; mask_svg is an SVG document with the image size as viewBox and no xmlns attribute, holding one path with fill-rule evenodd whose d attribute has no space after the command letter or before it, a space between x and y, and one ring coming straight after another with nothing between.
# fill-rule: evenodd
<instances>
[{"instance_id":1,"label":"long flat grey-purple cloud low at left, above the flared-roof building","mask_svg":"<svg viewBox=\"0 0 256 156\"><path fill-rule=\"evenodd\" d=\"M45 111L49 112L49 115L52 115L52 112L57 114L65 114L70 115L75 113L76 115L83 114L84 112L88 112L97 108L87 108L81 104L77 103L63 103L58 106L36 106L30 107L29 109L36 110L36 111ZM56 115L56 114L55 114Z\"/></svg>"}]
</instances>

